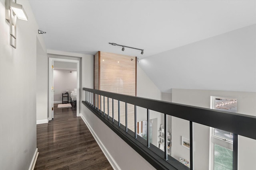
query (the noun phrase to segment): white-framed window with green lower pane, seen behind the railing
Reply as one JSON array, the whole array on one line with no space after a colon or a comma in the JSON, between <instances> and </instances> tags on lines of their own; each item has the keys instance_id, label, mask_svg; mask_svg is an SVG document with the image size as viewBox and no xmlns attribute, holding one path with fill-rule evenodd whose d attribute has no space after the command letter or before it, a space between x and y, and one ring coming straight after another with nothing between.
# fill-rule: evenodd
<instances>
[{"instance_id":1,"label":"white-framed window with green lower pane, seen behind the railing","mask_svg":"<svg viewBox=\"0 0 256 170\"><path fill-rule=\"evenodd\" d=\"M237 112L237 99L211 96L211 109ZM233 133L210 128L210 169L233 169Z\"/></svg>"}]
</instances>

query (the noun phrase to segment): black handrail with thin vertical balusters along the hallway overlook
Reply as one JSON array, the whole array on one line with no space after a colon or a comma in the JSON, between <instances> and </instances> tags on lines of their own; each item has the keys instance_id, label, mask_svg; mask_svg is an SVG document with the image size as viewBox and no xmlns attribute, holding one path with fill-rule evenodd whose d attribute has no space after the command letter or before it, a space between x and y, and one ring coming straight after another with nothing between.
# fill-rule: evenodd
<instances>
[{"instance_id":1,"label":"black handrail with thin vertical balusters along the hallway overlook","mask_svg":"<svg viewBox=\"0 0 256 170\"><path fill-rule=\"evenodd\" d=\"M132 104L134 105L134 112L135 112L135 119L136 119L136 106L144 107L147 109L147 117L149 121L149 111L154 110L158 111L160 113L164 113L164 125L165 125L165 147L164 147L164 158L167 160L169 158L167 153L167 133L166 133L166 124L167 124L167 118L166 115L171 115L174 117L179 117L181 119L185 119L190 121L190 169L193 169L193 122L194 123L200 123L202 125L206 125L209 127L214 127L217 129L222 129L224 131L229 131L234 134L234 136L237 137L237 135L242 135L245 137L249 137L252 139L256 139L256 133L253 129L256 129L256 117L251 115L244 115L239 113L231 113L227 111L218 111L214 109L207 109L202 107L195 107L195 106L188 106L188 105L182 105L182 104L175 104L171 102L163 102L159 100L152 100L152 99L146 99L146 98L140 98L135 96L128 96L123 94L117 94L112 92L106 92L101 90L95 90L90 88L83 88L85 91L85 104L86 106L89 106L90 108L94 108L96 111L100 111L102 113L102 110L98 106L95 105L94 100L98 100L98 95L112 98L112 100L118 100L118 104L120 101L125 102L126 105ZM96 99L95 94L97 94ZM105 100L105 98L104 98ZM101 101L100 101L101 102ZM105 102L104 102L105 104ZM112 102L114 104L114 102ZM100 104L101 106L101 104ZM113 107L113 106L112 106ZM97 108L97 109L96 109ZM109 107L108 107L109 108ZM119 107L118 107L119 109ZM91 109L93 111L93 109ZM104 105L104 116L105 116L105 105ZM107 112L109 113L109 112ZM127 116L127 109L126 109L126 116ZM112 122L114 123L114 113L112 115ZM109 114L108 114L109 119ZM126 117L127 120L127 117ZM136 122L136 120L135 120ZM118 110L118 127L120 127L120 111ZM148 122L149 125L149 122ZM148 127L149 128L149 127ZM126 123L126 132L127 132L127 123ZM136 125L135 125L135 132L136 132ZM148 129L147 129L148 132ZM147 135L148 138L149 135ZM136 139L137 135L134 134L134 138ZM149 140L147 140L147 146L150 147ZM237 160L233 162L234 164L237 164ZM177 167L176 167L177 168ZM182 167L181 169L184 169Z\"/></svg>"}]
</instances>

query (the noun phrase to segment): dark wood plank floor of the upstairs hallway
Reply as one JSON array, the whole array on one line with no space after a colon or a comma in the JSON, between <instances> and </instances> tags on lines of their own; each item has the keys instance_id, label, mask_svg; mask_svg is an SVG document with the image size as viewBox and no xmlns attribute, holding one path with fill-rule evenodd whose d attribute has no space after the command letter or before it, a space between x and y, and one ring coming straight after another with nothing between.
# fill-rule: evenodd
<instances>
[{"instance_id":1,"label":"dark wood plank floor of the upstairs hallway","mask_svg":"<svg viewBox=\"0 0 256 170\"><path fill-rule=\"evenodd\" d=\"M34 169L112 170L75 108L57 108L54 120L37 125L38 158Z\"/></svg>"}]
</instances>

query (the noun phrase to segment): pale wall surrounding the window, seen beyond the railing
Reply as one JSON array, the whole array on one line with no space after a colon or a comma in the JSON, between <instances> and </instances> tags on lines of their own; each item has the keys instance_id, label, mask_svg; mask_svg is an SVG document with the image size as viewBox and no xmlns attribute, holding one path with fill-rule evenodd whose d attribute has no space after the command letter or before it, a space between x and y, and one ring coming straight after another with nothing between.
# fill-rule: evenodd
<instances>
[{"instance_id":1,"label":"pale wall surrounding the window, seen beyond the railing","mask_svg":"<svg viewBox=\"0 0 256 170\"><path fill-rule=\"evenodd\" d=\"M210 96L236 98L237 112L256 116L256 92L172 89L172 102L210 108ZM172 156L189 159L189 150L181 146L181 136L189 138L189 121L172 117ZM195 169L209 167L210 127L194 123ZM250 146L250 147L248 147ZM256 165L256 140L238 136L238 168L253 170Z\"/></svg>"}]
</instances>

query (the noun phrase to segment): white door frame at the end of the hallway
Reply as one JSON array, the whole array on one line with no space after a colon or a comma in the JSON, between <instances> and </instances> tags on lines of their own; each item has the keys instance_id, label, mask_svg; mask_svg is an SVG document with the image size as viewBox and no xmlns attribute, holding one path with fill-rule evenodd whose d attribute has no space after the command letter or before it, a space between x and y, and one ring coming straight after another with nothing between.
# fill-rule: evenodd
<instances>
[{"instance_id":1,"label":"white door frame at the end of the hallway","mask_svg":"<svg viewBox=\"0 0 256 170\"><path fill-rule=\"evenodd\" d=\"M54 61L63 61L63 62L70 62L70 63L76 63L76 69L77 69L77 84L76 84L76 89L77 89L77 101L76 101L76 116L79 115L79 105L80 105L80 61L79 60L72 60L72 59L60 59L60 58L53 58L49 57L49 92L48 92L48 99L49 99L49 104L48 104L48 111L49 111L49 121L52 120L52 81L53 81L53 72L52 72L52 62Z\"/></svg>"}]
</instances>

